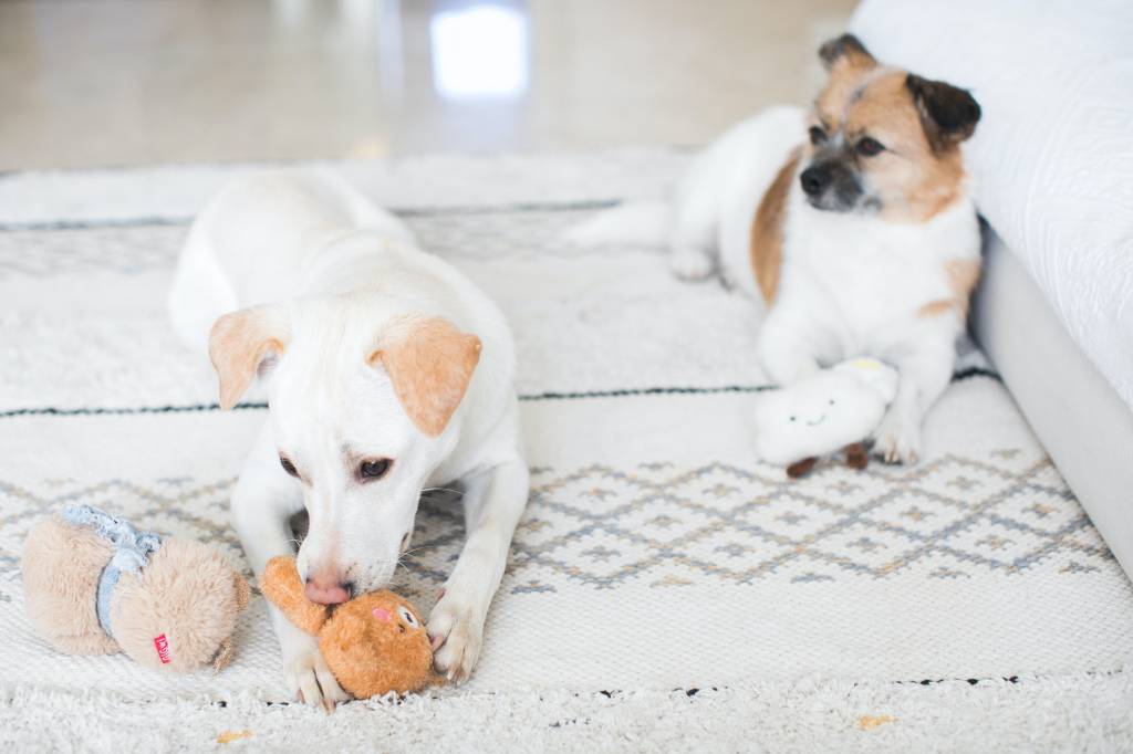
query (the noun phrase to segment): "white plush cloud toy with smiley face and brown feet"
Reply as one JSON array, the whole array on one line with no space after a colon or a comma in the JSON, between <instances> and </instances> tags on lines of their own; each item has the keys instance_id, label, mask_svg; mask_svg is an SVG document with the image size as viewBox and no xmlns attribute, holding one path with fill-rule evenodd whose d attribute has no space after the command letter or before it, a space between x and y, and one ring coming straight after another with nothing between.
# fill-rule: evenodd
<instances>
[{"instance_id":1,"label":"white plush cloud toy with smiley face and brown feet","mask_svg":"<svg viewBox=\"0 0 1133 754\"><path fill-rule=\"evenodd\" d=\"M790 477L807 473L824 455L846 452L855 469L868 461L863 440L885 415L898 375L877 359L850 359L756 400L756 453L785 465Z\"/></svg>"}]
</instances>

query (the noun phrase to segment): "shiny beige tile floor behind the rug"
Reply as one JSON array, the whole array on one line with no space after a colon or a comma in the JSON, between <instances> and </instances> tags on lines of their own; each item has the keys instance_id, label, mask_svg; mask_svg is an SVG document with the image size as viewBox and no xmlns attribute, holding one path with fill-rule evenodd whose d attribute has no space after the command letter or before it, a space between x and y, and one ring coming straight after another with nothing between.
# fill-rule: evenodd
<instances>
[{"instance_id":1,"label":"shiny beige tile floor behind the rug","mask_svg":"<svg viewBox=\"0 0 1133 754\"><path fill-rule=\"evenodd\" d=\"M854 0L7 0L0 170L700 144Z\"/></svg>"}]
</instances>

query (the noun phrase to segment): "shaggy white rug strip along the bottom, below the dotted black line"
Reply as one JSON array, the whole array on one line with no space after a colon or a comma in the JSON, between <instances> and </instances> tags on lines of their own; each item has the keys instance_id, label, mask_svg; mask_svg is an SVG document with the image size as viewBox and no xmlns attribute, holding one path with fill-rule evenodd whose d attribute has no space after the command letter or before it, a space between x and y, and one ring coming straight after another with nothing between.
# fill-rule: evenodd
<instances>
[{"instance_id":1,"label":"shaggy white rug strip along the bottom, below the dotted black line","mask_svg":"<svg viewBox=\"0 0 1133 754\"><path fill-rule=\"evenodd\" d=\"M245 697L137 703L28 689L0 699L0 742L20 752L1109 754L1131 751L1131 678L414 696L353 702L333 716Z\"/></svg>"}]
</instances>

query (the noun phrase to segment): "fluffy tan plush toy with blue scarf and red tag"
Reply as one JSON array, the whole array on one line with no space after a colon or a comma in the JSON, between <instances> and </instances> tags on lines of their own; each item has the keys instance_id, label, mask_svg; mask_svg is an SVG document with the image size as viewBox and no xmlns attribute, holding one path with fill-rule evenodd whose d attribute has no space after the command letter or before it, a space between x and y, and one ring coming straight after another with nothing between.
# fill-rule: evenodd
<instances>
[{"instance_id":1,"label":"fluffy tan plush toy with blue scarf and red tag","mask_svg":"<svg viewBox=\"0 0 1133 754\"><path fill-rule=\"evenodd\" d=\"M20 567L27 616L57 649L121 651L163 671L224 667L248 605L248 582L212 548L88 505L37 523Z\"/></svg>"}]
</instances>

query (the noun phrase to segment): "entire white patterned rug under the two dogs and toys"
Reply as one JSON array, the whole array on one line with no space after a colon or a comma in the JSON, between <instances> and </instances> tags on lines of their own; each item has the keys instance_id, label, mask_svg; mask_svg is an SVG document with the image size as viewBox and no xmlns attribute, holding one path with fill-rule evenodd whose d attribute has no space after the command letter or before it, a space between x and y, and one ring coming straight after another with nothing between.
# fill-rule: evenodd
<instances>
[{"instance_id":1,"label":"entire white patterned rug under the two dogs and toys","mask_svg":"<svg viewBox=\"0 0 1133 754\"><path fill-rule=\"evenodd\" d=\"M919 465L787 481L749 451L764 382L751 307L675 282L658 254L559 242L604 204L662 195L682 162L339 165L510 316L533 494L470 684L330 719L280 703L258 597L235 663L177 679L60 656L23 612L23 537L73 502L244 565L228 495L265 412L255 395L214 409L214 377L163 303L185 221L245 169L0 178L0 743L1128 746L1133 589L978 352L965 346ZM460 540L459 508L428 502L399 575L424 609Z\"/></svg>"}]
</instances>

